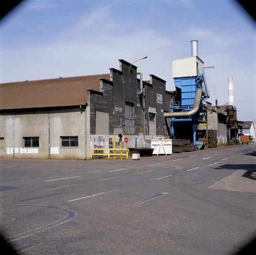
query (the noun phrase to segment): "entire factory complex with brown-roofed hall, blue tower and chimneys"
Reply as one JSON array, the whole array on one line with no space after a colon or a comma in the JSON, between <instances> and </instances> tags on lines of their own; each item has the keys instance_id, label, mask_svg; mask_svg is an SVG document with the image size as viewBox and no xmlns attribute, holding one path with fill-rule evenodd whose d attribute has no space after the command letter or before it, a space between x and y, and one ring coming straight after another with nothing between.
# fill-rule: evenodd
<instances>
[{"instance_id":1,"label":"entire factory complex with brown-roofed hall, blue tower and chimneys","mask_svg":"<svg viewBox=\"0 0 256 255\"><path fill-rule=\"evenodd\" d=\"M145 150L156 136L175 139L176 152L239 144L233 78L229 104L212 106L195 40L191 56L172 68L171 92L165 80L152 74L145 81L123 59L106 74L0 84L0 157L89 159L91 149L123 147L124 138L134 148L135 136Z\"/></svg>"}]
</instances>

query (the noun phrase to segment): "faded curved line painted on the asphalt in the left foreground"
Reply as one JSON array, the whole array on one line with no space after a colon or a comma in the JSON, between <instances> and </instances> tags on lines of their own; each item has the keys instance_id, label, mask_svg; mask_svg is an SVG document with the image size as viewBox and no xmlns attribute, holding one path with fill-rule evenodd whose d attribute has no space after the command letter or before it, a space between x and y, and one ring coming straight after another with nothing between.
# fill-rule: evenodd
<instances>
[{"instance_id":1,"label":"faded curved line painted on the asphalt in the left foreground","mask_svg":"<svg viewBox=\"0 0 256 255\"><path fill-rule=\"evenodd\" d=\"M61 208L61 207L57 207L57 206L31 205L31 204L6 204L6 205L0 205L0 206L39 206L39 207L46 207L46 208L61 210L61 211L66 213L66 217L64 217L64 218L62 218L62 219L60 219L58 221L55 221L55 222L50 223L48 225L45 225L45 226L42 226L42 227L39 227L39 228L36 228L36 229L32 229L32 230L23 232L21 234L18 234L16 236L13 236L12 238L14 238L14 239L8 241L8 243L17 241L19 239L23 239L23 238L31 236L33 234L36 234L36 233L39 233L39 232L51 229L53 227L59 226L61 224L64 224L64 223L74 219L76 217L76 215L77 215L76 212L74 212L72 210Z\"/></svg>"}]
</instances>

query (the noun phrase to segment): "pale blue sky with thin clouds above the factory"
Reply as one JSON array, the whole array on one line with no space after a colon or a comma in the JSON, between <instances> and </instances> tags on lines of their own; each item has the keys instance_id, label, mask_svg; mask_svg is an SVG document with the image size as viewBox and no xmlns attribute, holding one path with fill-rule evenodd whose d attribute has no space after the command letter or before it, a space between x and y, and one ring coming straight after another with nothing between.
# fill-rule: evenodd
<instances>
[{"instance_id":1,"label":"pale blue sky with thin clouds above the factory","mask_svg":"<svg viewBox=\"0 0 256 255\"><path fill-rule=\"evenodd\" d=\"M199 40L210 102L256 119L256 26L235 0L26 0L0 22L0 82L108 73L137 62L174 90L172 60ZM249 110L250 109L250 110Z\"/></svg>"}]
</instances>

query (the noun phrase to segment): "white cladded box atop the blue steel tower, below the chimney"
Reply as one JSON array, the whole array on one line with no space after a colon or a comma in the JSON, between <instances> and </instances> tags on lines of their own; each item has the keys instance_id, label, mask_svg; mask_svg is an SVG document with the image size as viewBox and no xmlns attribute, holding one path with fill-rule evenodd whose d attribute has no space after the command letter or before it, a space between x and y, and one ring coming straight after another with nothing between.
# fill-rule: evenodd
<instances>
[{"instance_id":1,"label":"white cladded box atop the blue steel tower, below the chimney","mask_svg":"<svg viewBox=\"0 0 256 255\"><path fill-rule=\"evenodd\" d=\"M197 76L197 57L188 57L172 61L173 78Z\"/></svg>"}]
</instances>

